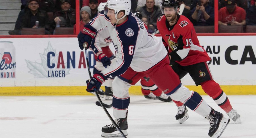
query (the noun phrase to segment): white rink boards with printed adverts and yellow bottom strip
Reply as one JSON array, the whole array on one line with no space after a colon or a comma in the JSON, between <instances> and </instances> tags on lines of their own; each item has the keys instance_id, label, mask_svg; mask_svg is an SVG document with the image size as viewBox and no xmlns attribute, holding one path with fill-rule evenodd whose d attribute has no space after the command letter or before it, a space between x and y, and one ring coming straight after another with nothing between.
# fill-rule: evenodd
<instances>
[{"instance_id":1,"label":"white rink boards with printed adverts and yellow bottom strip","mask_svg":"<svg viewBox=\"0 0 256 138\"><path fill-rule=\"evenodd\" d=\"M212 59L209 66L214 80L226 94L256 94L255 36L198 38ZM12 42L15 48L12 52L13 49L3 48L4 42L2 45L0 42L0 95L90 95L85 90L85 81L89 79L85 52L79 49L77 38L4 38L0 41ZM88 51L93 72L94 56ZM181 81L191 90L204 94L189 75ZM137 83L129 94L141 95L140 89Z\"/></svg>"}]
</instances>

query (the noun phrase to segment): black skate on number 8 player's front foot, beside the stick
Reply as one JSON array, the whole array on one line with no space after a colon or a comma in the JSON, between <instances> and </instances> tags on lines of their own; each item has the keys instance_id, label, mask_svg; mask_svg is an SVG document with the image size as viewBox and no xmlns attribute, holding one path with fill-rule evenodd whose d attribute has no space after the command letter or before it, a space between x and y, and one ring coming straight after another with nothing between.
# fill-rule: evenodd
<instances>
[{"instance_id":1,"label":"black skate on number 8 player's front foot, beside the stick","mask_svg":"<svg viewBox=\"0 0 256 138\"><path fill-rule=\"evenodd\" d=\"M120 130L122 130L125 136L128 135L126 131L128 129L127 113L128 111L126 112L125 118L115 119L117 126L120 128ZM122 134L116 129L113 123L110 125L103 126L101 131L102 131L101 137L122 137ZM118 132L118 133L114 133L114 132Z\"/></svg>"}]
</instances>

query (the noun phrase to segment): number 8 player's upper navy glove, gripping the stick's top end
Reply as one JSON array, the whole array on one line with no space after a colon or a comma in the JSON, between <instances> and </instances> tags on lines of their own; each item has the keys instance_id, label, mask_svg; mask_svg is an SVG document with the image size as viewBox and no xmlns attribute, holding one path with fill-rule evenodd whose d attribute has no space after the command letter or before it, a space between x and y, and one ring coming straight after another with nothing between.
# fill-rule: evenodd
<instances>
[{"instance_id":1,"label":"number 8 player's upper navy glove, gripping the stick's top end","mask_svg":"<svg viewBox=\"0 0 256 138\"><path fill-rule=\"evenodd\" d=\"M84 43L87 43L87 49L90 47L92 39L96 36L96 31L91 25L84 25L84 29L77 35L81 50L84 49Z\"/></svg>"}]
</instances>

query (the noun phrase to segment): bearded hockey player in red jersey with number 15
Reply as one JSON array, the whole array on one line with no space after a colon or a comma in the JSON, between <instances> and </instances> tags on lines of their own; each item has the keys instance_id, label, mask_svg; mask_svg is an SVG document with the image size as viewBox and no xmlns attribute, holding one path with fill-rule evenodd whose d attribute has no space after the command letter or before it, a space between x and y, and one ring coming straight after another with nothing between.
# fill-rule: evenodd
<instances>
[{"instance_id":1,"label":"bearded hockey player in red jersey with number 15","mask_svg":"<svg viewBox=\"0 0 256 138\"><path fill-rule=\"evenodd\" d=\"M240 115L232 108L227 95L212 77L206 63L211 59L200 46L193 24L185 16L178 15L179 7L179 1L165 0L162 6L162 13L165 15L157 21L157 29L168 48L170 66L180 79L189 73L197 86L201 85L204 92L212 97L233 121L240 123Z\"/></svg>"}]
</instances>

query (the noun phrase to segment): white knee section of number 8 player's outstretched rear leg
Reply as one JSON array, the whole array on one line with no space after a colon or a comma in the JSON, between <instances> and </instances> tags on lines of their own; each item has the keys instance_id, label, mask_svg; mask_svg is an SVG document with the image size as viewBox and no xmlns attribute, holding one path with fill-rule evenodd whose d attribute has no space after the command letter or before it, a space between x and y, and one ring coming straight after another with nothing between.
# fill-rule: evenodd
<instances>
[{"instance_id":1,"label":"white knee section of number 8 player's outstretched rear leg","mask_svg":"<svg viewBox=\"0 0 256 138\"><path fill-rule=\"evenodd\" d=\"M181 103L185 103L193 94L193 91L190 91L187 87L181 85L176 92L170 95L172 100L180 101Z\"/></svg>"}]
</instances>

